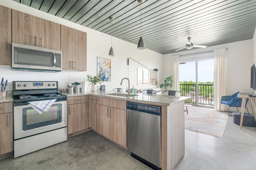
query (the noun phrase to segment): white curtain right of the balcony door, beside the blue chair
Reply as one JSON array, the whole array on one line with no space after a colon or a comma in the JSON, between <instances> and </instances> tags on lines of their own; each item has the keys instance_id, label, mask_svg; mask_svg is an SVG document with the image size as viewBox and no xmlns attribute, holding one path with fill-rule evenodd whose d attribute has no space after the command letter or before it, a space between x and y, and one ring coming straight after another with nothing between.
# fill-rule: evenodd
<instances>
[{"instance_id":1,"label":"white curtain right of the balcony door, beside the blue chair","mask_svg":"<svg viewBox=\"0 0 256 170\"><path fill-rule=\"evenodd\" d=\"M214 50L214 109L220 109L220 99L224 95L226 95L226 49L222 48Z\"/></svg>"}]
</instances>

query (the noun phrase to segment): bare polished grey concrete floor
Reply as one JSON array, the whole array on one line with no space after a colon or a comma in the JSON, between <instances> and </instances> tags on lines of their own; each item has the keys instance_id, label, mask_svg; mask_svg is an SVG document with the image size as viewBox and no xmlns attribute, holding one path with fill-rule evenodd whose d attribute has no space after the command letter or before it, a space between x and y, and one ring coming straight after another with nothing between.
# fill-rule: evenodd
<instances>
[{"instance_id":1,"label":"bare polished grey concrete floor","mask_svg":"<svg viewBox=\"0 0 256 170\"><path fill-rule=\"evenodd\" d=\"M27 146L29 147L29 146ZM222 138L185 130L185 156L177 169L255 169L256 128L233 124ZM150 169L93 131L19 158L0 160L0 169Z\"/></svg>"}]
</instances>

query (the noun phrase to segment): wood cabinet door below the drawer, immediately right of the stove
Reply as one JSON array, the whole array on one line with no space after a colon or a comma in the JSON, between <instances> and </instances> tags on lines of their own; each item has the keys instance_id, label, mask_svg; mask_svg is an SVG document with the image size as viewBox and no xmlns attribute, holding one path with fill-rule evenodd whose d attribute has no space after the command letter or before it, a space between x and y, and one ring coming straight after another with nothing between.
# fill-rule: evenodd
<instances>
[{"instance_id":1,"label":"wood cabinet door below the drawer, immediately right of the stove","mask_svg":"<svg viewBox=\"0 0 256 170\"><path fill-rule=\"evenodd\" d=\"M68 134L88 128L88 105L86 103L68 105Z\"/></svg>"}]
</instances>

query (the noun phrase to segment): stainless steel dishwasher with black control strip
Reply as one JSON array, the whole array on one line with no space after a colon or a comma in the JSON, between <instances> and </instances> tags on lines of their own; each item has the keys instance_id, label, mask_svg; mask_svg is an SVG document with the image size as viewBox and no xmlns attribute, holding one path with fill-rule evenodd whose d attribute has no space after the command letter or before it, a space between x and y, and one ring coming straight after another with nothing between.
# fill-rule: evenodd
<instances>
[{"instance_id":1,"label":"stainless steel dishwasher with black control strip","mask_svg":"<svg viewBox=\"0 0 256 170\"><path fill-rule=\"evenodd\" d=\"M161 168L161 107L127 102L127 149L153 169Z\"/></svg>"}]
</instances>

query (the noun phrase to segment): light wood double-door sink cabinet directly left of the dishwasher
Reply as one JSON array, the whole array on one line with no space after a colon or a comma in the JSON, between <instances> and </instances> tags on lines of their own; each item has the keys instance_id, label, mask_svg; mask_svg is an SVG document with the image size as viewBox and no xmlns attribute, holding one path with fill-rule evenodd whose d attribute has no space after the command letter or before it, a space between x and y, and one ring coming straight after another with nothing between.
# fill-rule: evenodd
<instances>
[{"instance_id":1,"label":"light wood double-door sink cabinet directly left of the dishwasher","mask_svg":"<svg viewBox=\"0 0 256 170\"><path fill-rule=\"evenodd\" d=\"M118 143L119 145L126 147L126 109L119 109L102 105L101 102L109 103L112 105L116 103L117 107L123 105L123 102L114 99L100 99L97 97L97 131L110 140ZM108 101L109 100L109 101ZM98 104L101 103L101 104ZM119 103L119 105L118 105ZM114 105L113 105L114 106Z\"/></svg>"}]
</instances>

